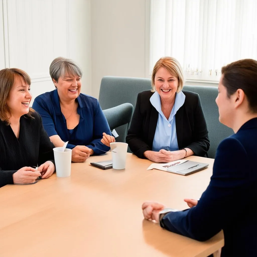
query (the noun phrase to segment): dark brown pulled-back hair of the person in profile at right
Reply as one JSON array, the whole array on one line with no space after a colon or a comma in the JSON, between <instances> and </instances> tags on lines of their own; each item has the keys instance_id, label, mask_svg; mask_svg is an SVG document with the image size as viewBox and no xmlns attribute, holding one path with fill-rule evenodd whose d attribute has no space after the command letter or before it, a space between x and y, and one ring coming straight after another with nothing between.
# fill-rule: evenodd
<instances>
[{"instance_id":1,"label":"dark brown pulled-back hair of the person in profile at right","mask_svg":"<svg viewBox=\"0 0 257 257\"><path fill-rule=\"evenodd\" d=\"M257 113L257 61L243 59L222 67L222 84L230 98L237 89L242 89L249 102L249 108Z\"/></svg>"}]
</instances>

